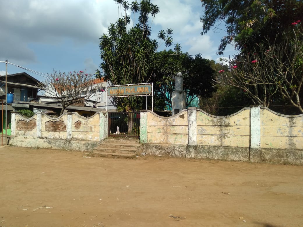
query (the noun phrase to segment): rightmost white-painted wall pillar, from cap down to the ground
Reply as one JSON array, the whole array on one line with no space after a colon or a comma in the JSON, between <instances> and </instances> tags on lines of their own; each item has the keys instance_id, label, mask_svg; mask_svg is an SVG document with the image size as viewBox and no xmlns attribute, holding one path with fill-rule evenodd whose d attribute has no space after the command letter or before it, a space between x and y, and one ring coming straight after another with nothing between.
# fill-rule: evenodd
<instances>
[{"instance_id":1,"label":"rightmost white-painted wall pillar, from cap down to the ground","mask_svg":"<svg viewBox=\"0 0 303 227\"><path fill-rule=\"evenodd\" d=\"M260 107L250 109L250 152L249 160L252 162L261 161L261 117Z\"/></svg>"}]
</instances>

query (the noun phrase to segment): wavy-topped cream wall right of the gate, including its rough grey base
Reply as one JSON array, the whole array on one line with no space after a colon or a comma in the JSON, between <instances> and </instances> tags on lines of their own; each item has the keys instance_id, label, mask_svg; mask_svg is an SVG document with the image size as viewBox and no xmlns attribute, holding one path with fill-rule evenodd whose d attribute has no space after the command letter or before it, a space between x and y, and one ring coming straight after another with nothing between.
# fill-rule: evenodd
<instances>
[{"instance_id":1,"label":"wavy-topped cream wall right of the gate, including its rough grey base","mask_svg":"<svg viewBox=\"0 0 303 227\"><path fill-rule=\"evenodd\" d=\"M303 114L266 107L218 117L188 108L173 117L141 113L140 142L151 155L303 164Z\"/></svg>"}]
</instances>

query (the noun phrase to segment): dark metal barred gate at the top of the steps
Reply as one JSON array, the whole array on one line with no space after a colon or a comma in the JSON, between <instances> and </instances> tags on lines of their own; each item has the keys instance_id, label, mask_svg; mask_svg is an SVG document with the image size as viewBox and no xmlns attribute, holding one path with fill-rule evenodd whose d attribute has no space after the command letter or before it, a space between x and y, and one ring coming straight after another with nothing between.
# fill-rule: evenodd
<instances>
[{"instance_id":1,"label":"dark metal barred gate at the top of the steps","mask_svg":"<svg viewBox=\"0 0 303 227\"><path fill-rule=\"evenodd\" d=\"M108 112L109 137L140 137L140 112Z\"/></svg>"}]
</instances>

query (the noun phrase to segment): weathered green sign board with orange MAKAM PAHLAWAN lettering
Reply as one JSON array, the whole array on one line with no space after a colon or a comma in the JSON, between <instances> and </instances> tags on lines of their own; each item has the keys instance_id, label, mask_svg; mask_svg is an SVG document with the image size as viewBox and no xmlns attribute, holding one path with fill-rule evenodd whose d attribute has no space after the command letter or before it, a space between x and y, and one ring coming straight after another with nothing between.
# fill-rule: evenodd
<instances>
[{"instance_id":1,"label":"weathered green sign board with orange MAKAM PAHLAWAN lettering","mask_svg":"<svg viewBox=\"0 0 303 227\"><path fill-rule=\"evenodd\" d=\"M152 95L152 84L131 84L107 87L107 96L125 97L140 95Z\"/></svg>"}]
</instances>

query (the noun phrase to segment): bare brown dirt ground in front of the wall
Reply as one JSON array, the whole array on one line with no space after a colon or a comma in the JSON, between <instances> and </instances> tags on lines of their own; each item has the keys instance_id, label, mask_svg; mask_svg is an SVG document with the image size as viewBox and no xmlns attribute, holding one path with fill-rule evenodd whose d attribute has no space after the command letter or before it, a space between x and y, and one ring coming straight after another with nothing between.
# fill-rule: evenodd
<instances>
[{"instance_id":1,"label":"bare brown dirt ground in front of the wall","mask_svg":"<svg viewBox=\"0 0 303 227\"><path fill-rule=\"evenodd\" d=\"M0 148L0 226L303 226L303 166Z\"/></svg>"}]
</instances>

